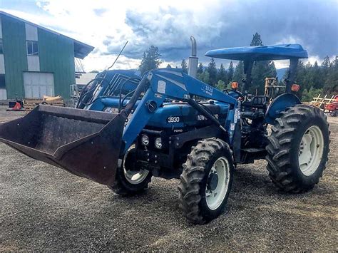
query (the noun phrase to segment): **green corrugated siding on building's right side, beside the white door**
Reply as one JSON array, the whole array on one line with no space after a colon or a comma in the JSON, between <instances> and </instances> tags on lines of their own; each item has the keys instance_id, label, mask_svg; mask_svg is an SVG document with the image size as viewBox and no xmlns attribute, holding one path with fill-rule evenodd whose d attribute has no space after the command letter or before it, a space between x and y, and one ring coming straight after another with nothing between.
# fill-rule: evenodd
<instances>
[{"instance_id":1,"label":"green corrugated siding on building's right side, beside the white door","mask_svg":"<svg viewBox=\"0 0 338 253\"><path fill-rule=\"evenodd\" d=\"M55 95L70 98L75 83L74 44L71 39L38 29L40 71L54 74Z\"/></svg>"}]
</instances>

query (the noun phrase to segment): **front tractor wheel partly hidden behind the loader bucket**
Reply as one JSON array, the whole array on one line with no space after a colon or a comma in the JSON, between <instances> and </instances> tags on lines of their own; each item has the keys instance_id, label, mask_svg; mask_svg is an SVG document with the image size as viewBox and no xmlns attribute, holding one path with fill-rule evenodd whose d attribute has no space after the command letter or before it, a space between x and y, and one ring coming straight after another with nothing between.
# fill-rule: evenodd
<instances>
[{"instance_id":1,"label":"front tractor wheel partly hidden behind the loader bucket","mask_svg":"<svg viewBox=\"0 0 338 253\"><path fill-rule=\"evenodd\" d=\"M113 192L122 196L132 196L148 188L152 174L148 170L135 168L135 148L128 150L123 164L116 170L115 182L109 186Z\"/></svg>"}]
</instances>

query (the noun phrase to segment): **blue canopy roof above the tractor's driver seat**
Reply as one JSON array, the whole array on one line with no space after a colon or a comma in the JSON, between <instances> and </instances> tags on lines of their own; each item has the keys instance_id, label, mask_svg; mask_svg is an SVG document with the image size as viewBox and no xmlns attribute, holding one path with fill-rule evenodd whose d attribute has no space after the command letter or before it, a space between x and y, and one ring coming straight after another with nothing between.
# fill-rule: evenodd
<instances>
[{"instance_id":1,"label":"blue canopy roof above the tractor's driver seat","mask_svg":"<svg viewBox=\"0 0 338 253\"><path fill-rule=\"evenodd\" d=\"M242 46L210 50L205 56L237 61L272 61L290 58L307 58L307 51L299 44L271 46Z\"/></svg>"}]
</instances>

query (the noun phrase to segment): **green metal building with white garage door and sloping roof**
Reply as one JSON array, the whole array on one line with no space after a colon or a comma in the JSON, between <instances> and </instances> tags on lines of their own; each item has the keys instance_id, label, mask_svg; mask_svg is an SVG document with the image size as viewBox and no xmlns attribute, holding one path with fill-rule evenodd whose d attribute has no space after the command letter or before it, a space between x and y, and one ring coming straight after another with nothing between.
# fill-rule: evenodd
<instances>
[{"instance_id":1,"label":"green metal building with white garage door and sloping roof","mask_svg":"<svg viewBox=\"0 0 338 253\"><path fill-rule=\"evenodd\" d=\"M0 11L0 100L70 98L75 58L93 46Z\"/></svg>"}]
</instances>

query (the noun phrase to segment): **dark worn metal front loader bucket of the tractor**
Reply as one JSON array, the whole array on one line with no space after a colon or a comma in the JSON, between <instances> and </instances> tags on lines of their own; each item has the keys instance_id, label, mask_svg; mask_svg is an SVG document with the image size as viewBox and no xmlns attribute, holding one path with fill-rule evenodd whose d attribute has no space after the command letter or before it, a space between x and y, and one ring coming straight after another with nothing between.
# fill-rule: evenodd
<instances>
[{"instance_id":1,"label":"dark worn metal front loader bucket of the tractor","mask_svg":"<svg viewBox=\"0 0 338 253\"><path fill-rule=\"evenodd\" d=\"M126 113L39 105L0 124L0 141L36 160L112 185Z\"/></svg>"}]
</instances>

